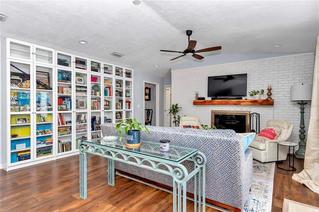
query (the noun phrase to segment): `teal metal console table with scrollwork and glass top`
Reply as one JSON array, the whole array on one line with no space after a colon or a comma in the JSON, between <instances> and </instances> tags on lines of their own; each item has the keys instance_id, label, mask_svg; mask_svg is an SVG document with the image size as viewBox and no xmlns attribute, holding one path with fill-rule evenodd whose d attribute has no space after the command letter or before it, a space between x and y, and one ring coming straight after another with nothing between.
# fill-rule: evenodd
<instances>
[{"instance_id":1,"label":"teal metal console table with scrollwork and glass top","mask_svg":"<svg viewBox=\"0 0 319 212\"><path fill-rule=\"evenodd\" d=\"M123 139L125 140L125 139ZM186 212L186 182L194 177L194 211L205 212L206 157L198 149L170 145L169 152L160 152L160 143L142 141L141 148L129 149L125 141L105 141L103 138L79 143L80 198L87 199L87 154L108 158L108 184L115 185L115 161L153 170L172 177L173 212ZM194 163L188 173L183 161ZM165 168L163 168L165 167Z\"/></svg>"}]
</instances>

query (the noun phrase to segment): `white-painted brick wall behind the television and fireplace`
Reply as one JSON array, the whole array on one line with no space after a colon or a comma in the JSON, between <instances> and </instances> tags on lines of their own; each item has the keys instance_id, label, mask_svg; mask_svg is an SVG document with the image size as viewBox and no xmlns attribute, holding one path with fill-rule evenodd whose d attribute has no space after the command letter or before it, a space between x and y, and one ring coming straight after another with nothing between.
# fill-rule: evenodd
<instances>
[{"instance_id":1,"label":"white-painted brick wall behind the television and fireplace","mask_svg":"<svg viewBox=\"0 0 319 212\"><path fill-rule=\"evenodd\" d=\"M315 54L304 53L272 57L244 62L228 63L174 70L171 72L172 104L178 103L182 110L178 115L199 116L202 124L211 124L211 110L245 110L260 113L260 126L265 126L268 119L288 120L295 125L292 141L299 142L300 106L290 101L292 85L312 84ZM252 99L248 92L265 90L261 99L267 98L267 86L272 86L274 106L193 106L195 92L199 97L207 98L207 77L227 74L247 73L247 99ZM305 106L305 130L307 134L310 118L310 102ZM307 139L307 137L306 137Z\"/></svg>"}]
</instances>

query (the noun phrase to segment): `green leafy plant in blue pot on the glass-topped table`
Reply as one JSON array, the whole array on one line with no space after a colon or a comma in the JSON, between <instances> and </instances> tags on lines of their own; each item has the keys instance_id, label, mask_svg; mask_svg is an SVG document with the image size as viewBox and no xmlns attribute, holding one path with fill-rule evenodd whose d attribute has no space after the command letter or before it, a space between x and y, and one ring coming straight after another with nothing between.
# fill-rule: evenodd
<instances>
[{"instance_id":1,"label":"green leafy plant in blue pot on the glass-topped table","mask_svg":"<svg viewBox=\"0 0 319 212\"><path fill-rule=\"evenodd\" d=\"M141 146L141 131L145 130L150 134L150 130L136 118L123 119L116 124L115 130L120 133L120 140L122 133L125 132L127 136L126 146L130 148L138 148Z\"/></svg>"}]
</instances>

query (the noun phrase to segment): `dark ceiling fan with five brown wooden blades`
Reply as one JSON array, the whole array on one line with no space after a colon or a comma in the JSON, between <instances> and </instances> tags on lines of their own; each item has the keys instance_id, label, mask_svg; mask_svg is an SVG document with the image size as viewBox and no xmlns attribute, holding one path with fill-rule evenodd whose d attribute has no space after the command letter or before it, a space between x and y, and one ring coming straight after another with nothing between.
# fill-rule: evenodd
<instances>
[{"instance_id":1,"label":"dark ceiling fan with five brown wooden blades","mask_svg":"<svg viewBox=\"0 0 319 212\"><path fill-rule=\"evenodd\" d=\"M180 55L178 57L174 57L173 59L170 60L175 60L177 58L180 58L182 56L185 56L188 53L191 53L192 56L198 60L203 59L204 57L196 54L196 53L200 53L200 52L210 52L210 51L216 51L216 50L220 50L221 46L215 46L215 47L210 47L210 48L205 48L205 49L200 49L200 50L194 50L195 46L196 46L196 40L189 40L189 36L191 35L193 31L192 30L186 30L186 35L188 35L188 46L187 49L185 49L183 52L180 51L171 51L171 50L160 50L162 52L177 52L177 53L182 53L183 55Z\"/></svg>"}]
</instances>

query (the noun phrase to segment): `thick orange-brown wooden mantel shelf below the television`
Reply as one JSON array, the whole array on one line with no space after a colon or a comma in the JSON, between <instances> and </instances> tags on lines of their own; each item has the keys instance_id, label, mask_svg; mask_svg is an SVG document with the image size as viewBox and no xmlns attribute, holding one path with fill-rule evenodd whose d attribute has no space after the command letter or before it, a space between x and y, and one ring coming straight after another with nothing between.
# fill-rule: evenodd
<instances>
[{"instance_id":1,"label":"thick orange-brown wooden mantel shelf below the television","mask_svg":"<svg viewBox=\"0 0 319 212\"><path fill-rule=\"evenodd\" d=\"M274 100L194 100L193 105L273 106Z\"/></svg>"}]
</instances>

